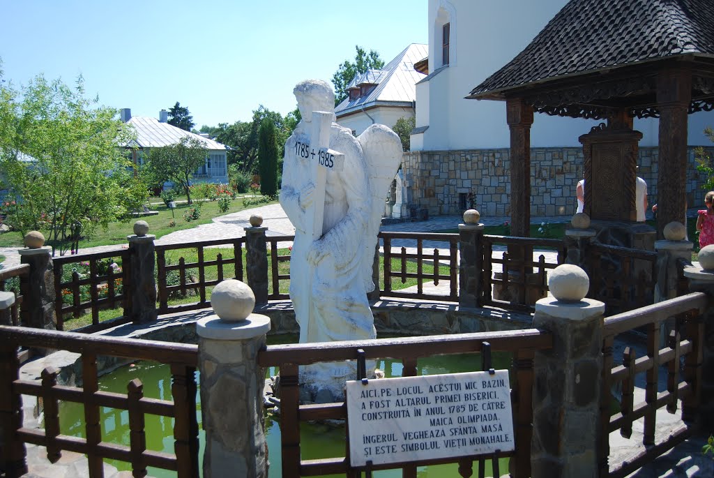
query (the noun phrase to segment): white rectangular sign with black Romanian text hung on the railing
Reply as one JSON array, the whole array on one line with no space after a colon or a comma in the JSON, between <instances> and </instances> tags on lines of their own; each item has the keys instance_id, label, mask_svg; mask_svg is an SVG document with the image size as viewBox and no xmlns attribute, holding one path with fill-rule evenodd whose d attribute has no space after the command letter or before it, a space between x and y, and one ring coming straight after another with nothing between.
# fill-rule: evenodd
<instances>
[{"instance_id":1,"label":"white rectangular sign with black Romanian text hung on the railing","mask_svg":"<svg viewBox=\"0 0 714 478\"><path fill-rule=\"evenodd\" d=\"M508 370L351 381L347 407L353 467L515 447Z\"/></svg>"}]
</instances>

